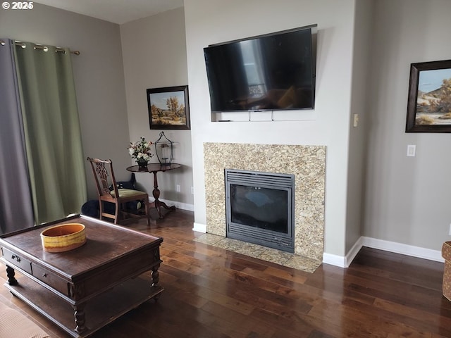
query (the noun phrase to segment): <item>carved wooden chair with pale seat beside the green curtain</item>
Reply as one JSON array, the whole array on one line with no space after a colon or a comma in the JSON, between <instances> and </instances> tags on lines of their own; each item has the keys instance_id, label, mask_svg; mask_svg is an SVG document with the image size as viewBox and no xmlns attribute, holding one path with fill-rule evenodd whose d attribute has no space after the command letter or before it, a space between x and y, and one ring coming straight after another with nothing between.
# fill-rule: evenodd
<instances>
[{"instance_id":1,"label":"carved wooden chair with pale seat beside the green curtain","mask_svg":"<svg viewBox=\"0 0 451 338\"><path fill-rule=\"evenodd\" d=\"M149 195L133 189L119 189L114 177L113 163L111 160L100 160L99 158L87 158L91 163L92 173L97 186L99 196L99 218L111 218L115 224L121 224L127 220L137 220L147 218L147 225L150 225ZM112 189L110 190L110 187ZM145 213L132 212L127 210L125 204L130 201L144 201ZM115 204L115 213L107 213L104 202ZM121 222L121 223L120 223Z\"/></svg>"}]
</instances>

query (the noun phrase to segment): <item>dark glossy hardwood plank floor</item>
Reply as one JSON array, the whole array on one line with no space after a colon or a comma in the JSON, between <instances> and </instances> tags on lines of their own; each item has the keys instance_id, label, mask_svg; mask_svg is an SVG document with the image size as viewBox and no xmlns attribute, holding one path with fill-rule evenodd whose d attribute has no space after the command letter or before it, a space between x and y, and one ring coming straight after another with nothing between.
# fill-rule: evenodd
<instances>
[{"instance_id":1,"label":"dark glossy hardwood plank floor","mask_svg":"<svg viewBox=\"0 0 451 338\"><path fill-rule=\"evenodd\" d=\"M192 213L179 210L150 230L145 221L130 225L163 237L165 291L93 338L451 337L443 263L363 248L350 268L323 264L303 273L193 242L200 233L192 224ZM18 306L53 337L68 337L0 290L0 301Z\"/></svg>"}]
</instances>

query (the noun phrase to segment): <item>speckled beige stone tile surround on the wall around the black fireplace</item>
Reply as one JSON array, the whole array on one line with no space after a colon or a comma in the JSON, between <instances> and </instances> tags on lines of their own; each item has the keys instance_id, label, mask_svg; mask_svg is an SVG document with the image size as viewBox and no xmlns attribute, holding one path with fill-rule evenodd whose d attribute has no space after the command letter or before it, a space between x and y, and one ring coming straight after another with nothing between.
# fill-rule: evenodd
<instances>
[{"instance_id":1,"label":"speckled beige stone tile surround on the wall around the black fireplace","mask_svg":"<svg viewBox=\"0 0 451 338\"><path fill-rule=\"evenodd\" d=\"M295 175L295 255L323 260L326 146L204 143L206 232L222 237L226 168Z\"/></svg>"}]
</instances>

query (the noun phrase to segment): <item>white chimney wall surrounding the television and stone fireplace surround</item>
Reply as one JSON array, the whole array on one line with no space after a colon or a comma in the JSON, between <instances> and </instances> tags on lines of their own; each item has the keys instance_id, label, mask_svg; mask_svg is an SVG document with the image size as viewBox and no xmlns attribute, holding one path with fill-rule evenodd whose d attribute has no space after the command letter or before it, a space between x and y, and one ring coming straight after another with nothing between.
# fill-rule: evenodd
<instances>
[{"instance_id":1,"label":"white chimney wall surrounding the television and stone fireplace surround","mask_svg":"<svg viewBox=\"0 0 451 338\"><path fill-rule=\"evenodd\" d=\"M203 48L318 24L314 120L212 123ZM325 251L345 255L353 0L185 0L194 222L206 224L204 142L326 145Z\"/></svg>"}]
</instances>

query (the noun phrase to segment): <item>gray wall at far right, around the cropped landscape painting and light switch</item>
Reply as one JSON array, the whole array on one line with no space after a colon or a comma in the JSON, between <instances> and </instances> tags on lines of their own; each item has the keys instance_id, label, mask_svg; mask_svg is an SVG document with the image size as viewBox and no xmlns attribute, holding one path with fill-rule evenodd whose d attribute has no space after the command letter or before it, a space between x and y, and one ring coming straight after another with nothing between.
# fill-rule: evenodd
<instances>
[{"instance_id":1,"label":"gray wall at far right, around the cropped landscape painting and light switch","mask_svg":"<svg viewBox=\"0 0 451 338\"><path fill-rule=\"evenodd\" d=\"M450 59L450 14L447 0L376 1L366 237L438 251L451 239L450 134L404 132L410 63Z\"/></svg>"}]
</instances>

